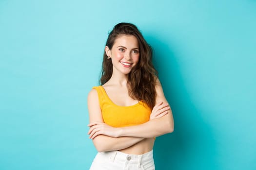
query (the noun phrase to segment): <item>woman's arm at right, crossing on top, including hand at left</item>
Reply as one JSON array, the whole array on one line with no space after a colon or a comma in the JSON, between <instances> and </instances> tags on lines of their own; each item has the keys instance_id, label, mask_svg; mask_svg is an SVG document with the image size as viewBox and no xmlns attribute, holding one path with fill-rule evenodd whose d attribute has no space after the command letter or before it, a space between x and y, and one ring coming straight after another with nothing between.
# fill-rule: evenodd
<instances>
[{"instance_id":1,"label":"woman's arm at right, crossing on top, including hand at left","mask_svg":"<svg viewBox=\"0 0 256 170\"><path fill-rule=\"evenodd\" d=\"M167 105L168 103L164 97L159 80L157 80L156 91L156 102L158 104L152 110L151 116L155 115L153 116L153 119L151 118L150 121L140 125L122 128L113 128L104 123L94 121L93 123L89 124L91 127L89 130L90 138L95 138L96 136L102 134L112 137L130 136L150 138L173 132L174 120L172 111Z\"/></svg>"}]
</instances>

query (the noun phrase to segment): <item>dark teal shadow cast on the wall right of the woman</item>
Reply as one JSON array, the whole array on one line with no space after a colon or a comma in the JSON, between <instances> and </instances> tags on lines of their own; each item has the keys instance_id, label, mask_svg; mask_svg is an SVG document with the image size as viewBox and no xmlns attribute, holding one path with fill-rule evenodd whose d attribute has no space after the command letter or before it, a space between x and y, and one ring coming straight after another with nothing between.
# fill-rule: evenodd
<instances>
[{"instance_id":1,"label":"dark teal shadow cast on the wall right of the woman","mask_svg":"<svg viewBox=\"0 0 256 170\"><path fill-rule=\"evenodd\" d=\"M205 170L217 168L217 149L209 124L202 119L190 99L189 91L181 76L178 56L171 44L155 37L146 37L154 49L154 65L158 70L165 97L173 111L175 130L159 136L154 146L156 169ZM182 70L184 71L184 70ZM193 74L193 73L189 73Z\"/></svg>"}]
</instances>

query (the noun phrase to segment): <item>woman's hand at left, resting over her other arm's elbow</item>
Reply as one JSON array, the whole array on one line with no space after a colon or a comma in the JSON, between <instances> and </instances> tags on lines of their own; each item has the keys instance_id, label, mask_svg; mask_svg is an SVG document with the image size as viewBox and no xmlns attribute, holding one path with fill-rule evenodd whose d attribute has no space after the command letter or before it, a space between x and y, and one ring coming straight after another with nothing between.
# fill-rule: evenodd
<instances>
[{"instance_id":1,"label":"woman's hand at left, resting over her other arm's elbow","mask_svg":"<svg viewBox=\"0 0 256 170\"><path fill-rule=\"evenodd\" d=\"M102 122L93 122L88 124L90 127L88 131L89 138L94 139L98 135L106 135L111 137L118 137L118 128L107 125Z\"/></svg>"}]
</instances>

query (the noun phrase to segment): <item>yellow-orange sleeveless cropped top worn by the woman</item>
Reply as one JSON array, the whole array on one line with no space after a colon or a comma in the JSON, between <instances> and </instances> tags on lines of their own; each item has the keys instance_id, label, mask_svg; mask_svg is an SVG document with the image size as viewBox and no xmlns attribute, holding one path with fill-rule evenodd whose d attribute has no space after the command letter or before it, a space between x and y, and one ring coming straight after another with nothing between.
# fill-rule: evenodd
<instances>
[{"instance_id":1,"label":"yellow-orange sleeveless cropped top worn by the woman","mask_svg":"<svg viewBox=\"0 0 256 170\"><path fill-rule=\"evenodd\" d=\"M104 123L113 127L125 127L149 121L151 109L146 103L139 101L131 106L119 106L110 100L101 85L93 88L98 92L98 100Z\"/></svg>"}]
</instances>

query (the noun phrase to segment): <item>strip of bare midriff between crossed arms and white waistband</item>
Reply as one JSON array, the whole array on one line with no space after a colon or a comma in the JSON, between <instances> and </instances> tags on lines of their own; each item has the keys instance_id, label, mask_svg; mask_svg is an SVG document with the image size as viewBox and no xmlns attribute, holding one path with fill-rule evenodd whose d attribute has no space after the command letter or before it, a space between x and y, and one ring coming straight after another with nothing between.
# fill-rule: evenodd
<instances>
[{"instance_id":1,"label":"strip of bare midriff between crossed arms and white waistband","mask_svg":"<svg viewBox=\"0 0 256 170\"><path fill-rule=\"evenodd\" d=\"M143 154L150 152L153 149L155 139L154 138L145 138L141 140L140 142L136 143L133 146L130 146L129 148L125 148L122 150L119 150L122 153L127 154Z\"/></svg>"}]
</instances>

